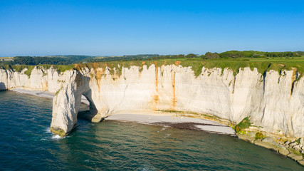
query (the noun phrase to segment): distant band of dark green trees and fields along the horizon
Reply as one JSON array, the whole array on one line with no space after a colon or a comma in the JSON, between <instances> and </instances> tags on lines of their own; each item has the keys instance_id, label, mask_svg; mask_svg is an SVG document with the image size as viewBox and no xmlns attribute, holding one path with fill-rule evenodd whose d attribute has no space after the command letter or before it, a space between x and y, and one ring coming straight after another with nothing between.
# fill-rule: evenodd
<instances>
[{"instance_id":1,"label":"distant band of dark green trees and fields along the horizon","mask_svg":"<svg viewBox=\"0 0 304 171\"><path fill-rule=\"evenodd\" d=\"M187 55L159 55L159 54L140 54L133 56L16 56L14 61L0 61L1 65L70 65L73 63L87 62L110 62L110 61L145 61L145 60L166 60L166 59L182 59L182 58L278 58L278 57L298 57L303 56L303 51L285 51L285 52L263 52L263 51L226 51L223 53L207 52L204 55L196 55L189 53Z\"/></svg>"}]
</instances>

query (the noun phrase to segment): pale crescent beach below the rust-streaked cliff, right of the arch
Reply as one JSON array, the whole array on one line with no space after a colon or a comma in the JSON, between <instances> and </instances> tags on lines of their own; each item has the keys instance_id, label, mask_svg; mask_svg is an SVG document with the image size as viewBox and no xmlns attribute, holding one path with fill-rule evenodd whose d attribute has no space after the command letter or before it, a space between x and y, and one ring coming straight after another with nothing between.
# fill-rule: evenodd
<instances>
[{"instance_id":1,"label":"pale crescent beach below the rust-streaked cliff, right of the arch","mask_svg":"<svg viewBox=\"0 0 304 171\"><path fill-rule=\"evenodd\" d=\"M177 117L174 115L140 115L140 114L116 114L111 115L105 120L118 120L126 122L136 122L149 125L161 125L174 128L203 130L209 133L219 133L236 136L234 129L229 126L217 123L212 120L200 118Z\"/></svg>"}]
</instances>

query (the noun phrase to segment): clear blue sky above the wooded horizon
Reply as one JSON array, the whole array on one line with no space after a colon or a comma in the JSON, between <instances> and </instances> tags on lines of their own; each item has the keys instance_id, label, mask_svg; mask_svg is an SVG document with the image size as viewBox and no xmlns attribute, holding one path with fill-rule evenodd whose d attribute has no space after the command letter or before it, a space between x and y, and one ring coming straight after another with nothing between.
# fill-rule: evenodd
<instances>
[{"instance_id":1,"label":"clear blue sky above the wooded horizon","mask_svg":"<svg viewBox=\"0 0 304 171\"><path fill-rule=\"evenodd\" d=\"M0 0L0 56L304 51L303 1Z\"/></svg>"}]
</instances>

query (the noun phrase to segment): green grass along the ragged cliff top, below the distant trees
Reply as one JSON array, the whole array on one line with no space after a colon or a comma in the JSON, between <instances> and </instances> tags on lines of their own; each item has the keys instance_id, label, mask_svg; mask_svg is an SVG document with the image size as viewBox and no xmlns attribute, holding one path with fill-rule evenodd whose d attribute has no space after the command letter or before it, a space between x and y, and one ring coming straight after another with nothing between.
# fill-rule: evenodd
<instances>
[{"instance_id":1,"label":"green grass along the ragged cliff top, below the distant trees","mask_svg":"<svg viewBox=\"0 0 304 171\"><path fill-rule=\"evenodd\" d=\"M70 69L80 69L80 68L116 68L117 72L120 73L122 66L129 68L130 66L144 66L150 65L162 66L162 65L171 65L178 64L184 67L191 66L194 71L195 76L201 74L201 68L229 68L234 72L234 75L239 72L239 69L246 67L257 68L259 73L264 73L265 71L274 70L292 70L296 68L298 72L303 75L304 73L304 57L295 57L295 58L229 58L229 59L201 59L201 58L188 58L188 59L166 59L166 60L155 60L155 61L112 61L112 62L100 62L100 63L80 63L73 64L70 66L53 66L57 68L58 72L64 72ZM118 65L120 67L118 67ZM50 68L52 65L41 65L43 68ZM3 66L4 68L12 68L15 71L21 71L23 68L31 68L31 66ZM111 73L114 73L114 70L110 70ZM120 75L120 74L119 74Z\"/></svg>"}]
</instances>

